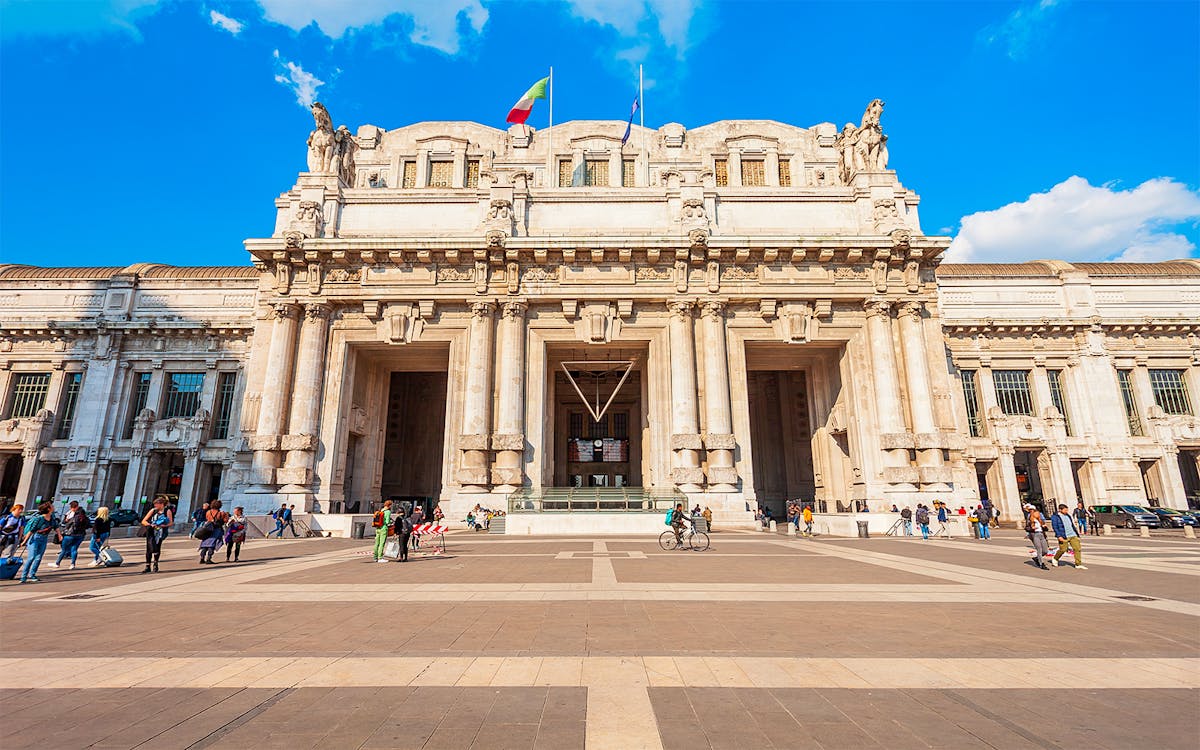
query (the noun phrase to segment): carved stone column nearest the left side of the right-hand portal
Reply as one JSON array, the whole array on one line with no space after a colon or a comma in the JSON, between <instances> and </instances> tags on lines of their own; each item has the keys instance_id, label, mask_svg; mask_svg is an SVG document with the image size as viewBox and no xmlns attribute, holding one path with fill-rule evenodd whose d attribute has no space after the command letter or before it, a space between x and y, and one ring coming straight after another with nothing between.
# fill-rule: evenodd
<instances>
[{"instance_id":1,"label":"carved stone column nearest the left side of the right-hand portal","mask_svg":"<svg viewBox=\"0 0 1200 750\"><path fill-rule=\"evenodd\" d=\"M738 473L733 466L733 414L730 407L730 367L725 354L725 302L701 304L704 325L704 448L708 450L708 487L713 492L736 492Z\"/></svg>"}]
</instances>

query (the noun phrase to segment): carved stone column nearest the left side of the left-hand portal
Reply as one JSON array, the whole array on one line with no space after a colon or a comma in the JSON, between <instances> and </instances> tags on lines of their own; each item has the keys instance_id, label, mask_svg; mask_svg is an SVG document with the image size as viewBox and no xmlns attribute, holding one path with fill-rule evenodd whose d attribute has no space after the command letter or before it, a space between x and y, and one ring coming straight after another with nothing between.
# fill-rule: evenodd
<instances>
[{"instance_id":1,"label":"carved stone column nearest the left side of the left-hand portal","mask_svg":"<svg viewBox=\"0 0 1200 750\"><path fill-rule=\"evenodd\" d=\"M284 468L278 472L281 492L311 496L312 463L317 450L317 422L320 418L320 384L325 376L325 341L329 335L328 305L310 304L304 307L300 347L296 353L295 384L292 392L292 414L288 434L281 439L287 451ZM301 498L304 509L311 510L311 497Z\"/></svg>"}]
</instances>

